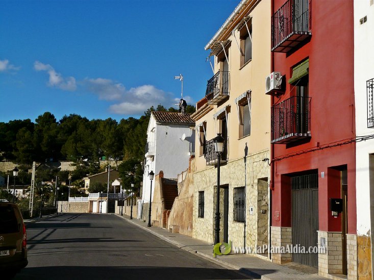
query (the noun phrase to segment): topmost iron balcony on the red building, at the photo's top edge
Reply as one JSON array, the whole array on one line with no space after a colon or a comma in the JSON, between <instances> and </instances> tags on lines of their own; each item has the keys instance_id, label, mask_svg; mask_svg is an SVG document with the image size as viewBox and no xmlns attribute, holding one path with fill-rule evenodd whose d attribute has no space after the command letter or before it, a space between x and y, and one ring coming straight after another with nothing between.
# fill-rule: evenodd
<instances>
[{"instance_id":1,"label":"topmost iron balcony on the red building, at the photo's top edge","mask_svg":"<svg viewBox=\"0 0 374 280\"><path fill-rule=\"evenodd\" d=\"M271 17L271 52L288 53L311 35L310 0L288 0Z\"/></svg>"}]
</instances>

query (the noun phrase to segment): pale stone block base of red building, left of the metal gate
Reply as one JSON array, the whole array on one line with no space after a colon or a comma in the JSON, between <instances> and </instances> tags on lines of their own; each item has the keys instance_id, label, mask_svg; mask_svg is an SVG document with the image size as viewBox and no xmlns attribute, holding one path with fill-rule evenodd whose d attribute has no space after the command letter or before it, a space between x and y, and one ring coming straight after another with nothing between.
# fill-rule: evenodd
<instances>
[{"instance_id":1,"label":"pale stone block base of red building, left of the metal gate","mask_svg":"<svg viewBox=\"0 0 374 280\"><path fill-rule=\"evenodd\" d=\"M286 247L292 244L292 228L271 226L271 246ZM272 261L277 264L285 264L292 261L291 253L272 253Z\"/></svg>"}]
</instances>

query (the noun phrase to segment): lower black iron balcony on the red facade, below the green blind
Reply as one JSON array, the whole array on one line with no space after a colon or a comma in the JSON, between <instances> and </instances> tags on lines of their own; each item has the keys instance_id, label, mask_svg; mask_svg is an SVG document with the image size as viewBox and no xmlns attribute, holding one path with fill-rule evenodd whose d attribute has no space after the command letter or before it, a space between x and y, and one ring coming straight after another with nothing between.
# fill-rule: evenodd
<instances>
[{"instance_id":1,"label":"lower black iron balcony on the red facade, below the green blind","mask_svg":"<svg viewBox=\"0 0 374 280\"><path fill-rule=\"evenodd\" d=\"M271 107L271 143L289 144L311 137L311 97L293 96Z\"/></svg>"}]
</instances>

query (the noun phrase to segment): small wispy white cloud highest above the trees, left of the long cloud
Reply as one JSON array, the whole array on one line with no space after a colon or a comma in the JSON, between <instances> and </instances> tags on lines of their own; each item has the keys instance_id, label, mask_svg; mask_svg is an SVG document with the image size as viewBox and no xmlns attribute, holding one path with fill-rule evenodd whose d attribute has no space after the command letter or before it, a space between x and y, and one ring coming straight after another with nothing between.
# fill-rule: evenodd
<instances>
[{"instance_id":1,"label":"small wispy white cloud highest above the trees, left of the long cloud","mask_svg":"<svg viewBox=\"0 0 374 280\"><path fill-rule=\"evenodd\" d=\"M34 69L37 71L46 71L49 75L48 86L56 87L62 90L74 91L77 89L76 79L74 77L64 78L60 73L49 64L34 62Z\"/></svg>"}]
</instances>

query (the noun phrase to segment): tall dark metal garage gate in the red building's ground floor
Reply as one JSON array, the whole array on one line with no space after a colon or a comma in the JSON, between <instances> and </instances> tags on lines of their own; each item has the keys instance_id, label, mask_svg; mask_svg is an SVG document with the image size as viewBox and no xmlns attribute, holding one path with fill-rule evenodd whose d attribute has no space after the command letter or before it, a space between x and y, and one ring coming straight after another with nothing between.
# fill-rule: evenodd
<instances>
[{"instance_id":1,"label":"tall dark metal garage gate in the red building's ground floor","mask_svg":"<svg viewBox=\"0 0 374 280\"><path fill-rule=\"evenodd\" d=\"M292 262L318 267L318 252L308 252L318 242L318 174L295 176L292 186L292 245L306 252L292 252Z\"/></svg>"}]
</instances>

